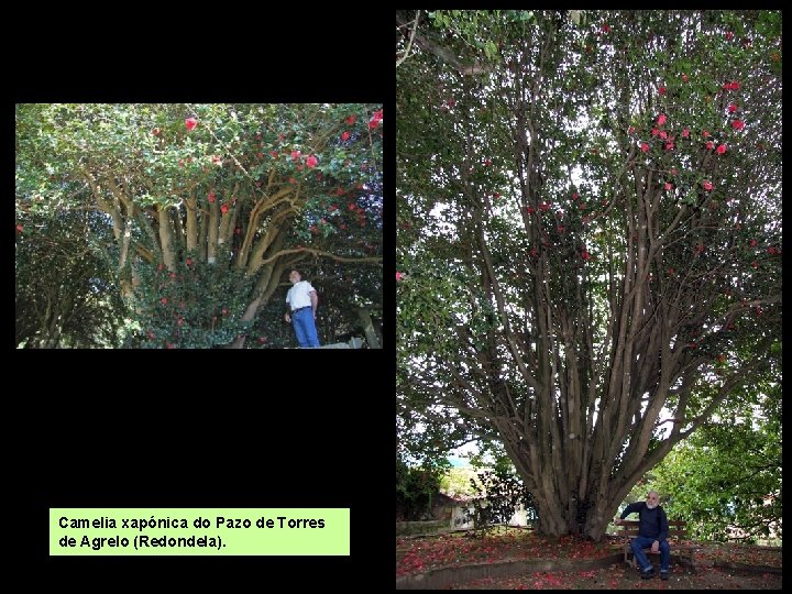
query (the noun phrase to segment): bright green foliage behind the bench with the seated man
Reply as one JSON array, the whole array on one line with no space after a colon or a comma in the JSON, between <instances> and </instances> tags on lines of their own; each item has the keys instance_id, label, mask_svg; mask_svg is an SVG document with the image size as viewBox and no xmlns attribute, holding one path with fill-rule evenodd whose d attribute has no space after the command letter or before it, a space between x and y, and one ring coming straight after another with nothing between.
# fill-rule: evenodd
<instances>
[{"instance_id":1,"label":"bright green foliage behind the bench with the seated man","mask_svg":"<svg viewBox=\"0 0 792 594\"><path fill-rule=\"evenodd\" d=\"M756 400L757 404L751 404ZM669 515L703 540L781 538L781 387L759 383L739 408L679 444L654 469Z\"/></svg>"}]
</instances>

